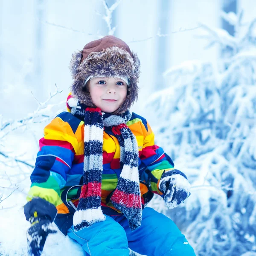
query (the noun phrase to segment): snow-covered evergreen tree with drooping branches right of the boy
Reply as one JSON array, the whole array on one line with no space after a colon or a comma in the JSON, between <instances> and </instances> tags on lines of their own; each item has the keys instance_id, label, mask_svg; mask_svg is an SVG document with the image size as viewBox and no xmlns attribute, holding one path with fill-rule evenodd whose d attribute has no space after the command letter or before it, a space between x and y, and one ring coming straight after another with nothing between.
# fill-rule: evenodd
<instances>
[{"instance_id":1,"label":"snow-covered evergreen tree with drooping branches right of the boy","mask_svg":"<svg viewBox=\"0 0 256 256\"><path fill-rule=\"evenodd\" d=\"M175 221L198 256L256 255L256 19L222 17L234 36L202 25L209 46L220 45L218 64L173 67L164 73L168 87L148 99L157 144L192 182L181 207L167 210L159 198L150 205Z\"/></svg>"}]
</instances>

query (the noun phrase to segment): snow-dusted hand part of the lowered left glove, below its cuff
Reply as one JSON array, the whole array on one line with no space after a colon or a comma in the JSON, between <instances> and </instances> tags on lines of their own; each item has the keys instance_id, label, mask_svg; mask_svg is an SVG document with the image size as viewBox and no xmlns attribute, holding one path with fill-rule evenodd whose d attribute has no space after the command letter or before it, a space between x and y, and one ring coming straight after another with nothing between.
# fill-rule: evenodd
<instances>
[{"instance_id":1,"label":"snow-dusted hand part of the lowered left glove, below its cuff","mask_svg":"<svg viewBox=\"0 0 256 256\"><path fill-rule=\"evenodd\" d=\"M34 216L30 222L31 227L27 231L28 253L29 256L40 256L47 236L57 231L48 219L38 219Z\"/></svg>"}]
</instances>

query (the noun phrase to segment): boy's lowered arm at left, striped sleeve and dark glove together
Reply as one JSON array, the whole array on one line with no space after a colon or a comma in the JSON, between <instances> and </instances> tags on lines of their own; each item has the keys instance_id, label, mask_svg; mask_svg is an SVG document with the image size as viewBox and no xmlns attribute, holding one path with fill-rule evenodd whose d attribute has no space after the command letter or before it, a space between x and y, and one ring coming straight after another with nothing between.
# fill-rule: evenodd
<instances>
[{"instance_id":1,"label":"boy's lowered arm at left, striped sleeve and dark glove together","mask_svg":"<svg viewBox=\"0 0 256 256\"><path fill-rule=\"evenodd\" d=\"M31 223L27 231L29 255L41 255L47 236L56 232L51 222L57 214L60 190L66 184L67 173L79 151L79 127L79 119L63 112L44 128L35 169L30 177L28 203L24 206L26 220Z\"/></svg>"}]
</instances>

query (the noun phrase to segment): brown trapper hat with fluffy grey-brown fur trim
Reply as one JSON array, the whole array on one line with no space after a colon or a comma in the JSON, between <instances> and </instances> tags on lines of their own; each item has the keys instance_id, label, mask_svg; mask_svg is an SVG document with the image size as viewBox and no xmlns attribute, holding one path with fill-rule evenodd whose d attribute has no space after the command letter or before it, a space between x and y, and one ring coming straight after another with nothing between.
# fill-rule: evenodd
<instances>
[{"instance_id":1,"label":"brown trapper hat with fluffy grey-brown fur trim","mask_svg":"<svg viewBox=\"0 0 256 256\"><path fill-rule=\"evenodd\" d=\"M124 113L138 99L140 60L124 41L113 35L91 41L82 51L73 53L70 71L74 79L71 86L72 95L88 107L96 107L85 86L85 80L89 76L117 76L129 79L127 97L114 114Z\"/></svg>"}]
</instances>

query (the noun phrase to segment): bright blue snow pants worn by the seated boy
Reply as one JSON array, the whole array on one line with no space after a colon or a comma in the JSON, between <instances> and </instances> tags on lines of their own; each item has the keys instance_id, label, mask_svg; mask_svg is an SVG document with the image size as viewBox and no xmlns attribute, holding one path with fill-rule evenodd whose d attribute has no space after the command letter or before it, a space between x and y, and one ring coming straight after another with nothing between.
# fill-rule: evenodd
<instances>
[{"instance_id":1,"label":"bright blue snow pants worn by the seated boy","mask_svg":"<svg viewBox=\"0 0 256 256\"><path fill-rule=\"evenodd\" d=\"M78 232L72 226L67 235L90 256L129 256L128 247L147 256L195 256L175 223L149 207L143 209L142 224L134 231L123 215L115 215Z\"/></svg>"}]
</instances>

